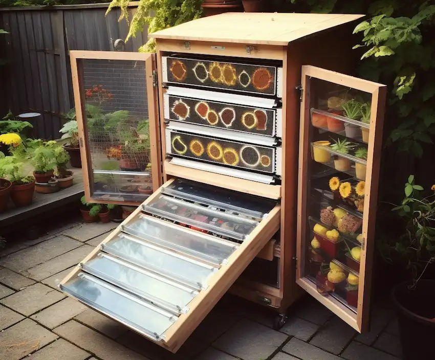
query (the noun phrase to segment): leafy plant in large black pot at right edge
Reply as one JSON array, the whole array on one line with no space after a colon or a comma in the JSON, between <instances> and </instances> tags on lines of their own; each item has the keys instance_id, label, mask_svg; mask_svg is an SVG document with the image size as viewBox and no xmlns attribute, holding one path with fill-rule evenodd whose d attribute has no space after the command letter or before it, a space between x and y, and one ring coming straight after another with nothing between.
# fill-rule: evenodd
<instances>
[{"instance_id":1,"label":"leafy plant in large black pot at right edge","mask_svg":"<svg viewBox=\"0 0 435 360\"><path fill-rule=\"evenodd\" d=\"M433 357L435 339L435 185L431 193L415 183L405 184L405 197L392 210L399 215L403 234L383 244L383 256L407 269L408 280L392 292L404 360ZM396 222L395 226L399 223Z\"/></svg>"}]
</instances>

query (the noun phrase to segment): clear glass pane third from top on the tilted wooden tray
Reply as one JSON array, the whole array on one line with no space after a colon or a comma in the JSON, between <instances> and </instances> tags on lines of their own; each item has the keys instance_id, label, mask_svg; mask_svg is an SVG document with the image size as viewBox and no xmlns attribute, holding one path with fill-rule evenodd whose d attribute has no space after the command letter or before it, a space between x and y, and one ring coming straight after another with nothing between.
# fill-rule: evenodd
<instances>
[{"instance_id":1,"label":"clear glass pane third from top on the tilted wooden tray","mask_svg":"<svg viewBox=\"0 0 435 360\"><path fill-rule=\"evenodd\" d=\"M215 265L225 263L238 248L233 242L214 236L199 236L180 226L143 214L124 224L122 231Z\"/></svg>"}]
</instances>

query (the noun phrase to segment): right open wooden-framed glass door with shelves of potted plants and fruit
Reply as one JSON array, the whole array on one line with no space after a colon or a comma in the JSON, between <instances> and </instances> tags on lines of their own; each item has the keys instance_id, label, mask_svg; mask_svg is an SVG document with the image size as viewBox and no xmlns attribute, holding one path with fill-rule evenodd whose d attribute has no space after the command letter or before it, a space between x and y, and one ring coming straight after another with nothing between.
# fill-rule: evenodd
<instances>
[{"instance_id":1,"label":"right open wooden-framed glass door with shelves of potted plants and fruit","mask_svg":"<svg viewBox=\"0 0 435 360\"><path fill-rule=\"evenodd\" d=\"M296 282L368 326L386 86L302 66Z\"/></svg>"}]
</instances>

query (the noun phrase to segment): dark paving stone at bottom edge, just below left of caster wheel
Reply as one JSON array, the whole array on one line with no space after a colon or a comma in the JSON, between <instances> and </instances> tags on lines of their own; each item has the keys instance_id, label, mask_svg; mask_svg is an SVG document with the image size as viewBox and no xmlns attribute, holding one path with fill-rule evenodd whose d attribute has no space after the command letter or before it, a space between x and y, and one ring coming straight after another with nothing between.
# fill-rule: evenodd
<instances>
[{"instance_id":1,"label":"dark paving stone at bottom edge, just below left of caster wheel","mask_svg":"<svg viewBox=\"0 0 435 360\"><path fill-rule=\"evenodd\" d=\"M288 336L279 331L242 319L213 343L213 347L244 360L269 357Z\"/></svg>"}]
</instances>

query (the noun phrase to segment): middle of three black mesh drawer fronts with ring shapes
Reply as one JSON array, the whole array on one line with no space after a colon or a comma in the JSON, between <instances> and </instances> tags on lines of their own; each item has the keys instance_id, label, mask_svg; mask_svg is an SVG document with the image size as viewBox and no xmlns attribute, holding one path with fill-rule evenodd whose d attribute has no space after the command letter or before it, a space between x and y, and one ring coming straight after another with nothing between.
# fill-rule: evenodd
<instances>
[{"instance_id":1,"label":"middle of three black mesh drawer fronts with ring shapes","mask_svg":"<svg viewBox=\"0 0 435 360\"><path fill-rule=\"evenodd\" d=\"M168 120L267 136L275 135L276 111L274 109L230 105L172 95L169 95L168 99Z\"/></svg>"}]
</instances>

